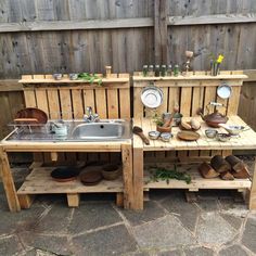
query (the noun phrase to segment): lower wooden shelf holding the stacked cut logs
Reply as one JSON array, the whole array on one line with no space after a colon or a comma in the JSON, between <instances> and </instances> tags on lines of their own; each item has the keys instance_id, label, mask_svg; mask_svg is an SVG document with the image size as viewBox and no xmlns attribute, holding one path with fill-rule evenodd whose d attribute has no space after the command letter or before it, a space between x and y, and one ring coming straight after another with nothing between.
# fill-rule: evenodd
<instances>
[{"instance_id":1,"label":"lower wooden shelf holding the stacked cut logs","mask_svg":"<svg viewBox=\"0 0 256 256\"><path fill-rule=\"evenodd\" d=\"M152 166L152 165L151 165ZM189 165L182 165L177 166L178 170L180 171L187 171L191 178L191 183L187 184L182 180L170 180L167 184L166 181L158 181L158 182L152 182L150 179L150 165L145 165L144 169L144 190L149 189L189 189L192 191L196 191L199 189L238 189L238 190L244 190L249 189L252 185L252 181L249 179L234 179L234 180L221 180L220 178L214 178L214 179L204 179L199 170L197 166L199 164L189 164ZM165 167L165 168L174 168L172 165L168 164L157 164L158 167Z\"/></svg>"}]
</instances>

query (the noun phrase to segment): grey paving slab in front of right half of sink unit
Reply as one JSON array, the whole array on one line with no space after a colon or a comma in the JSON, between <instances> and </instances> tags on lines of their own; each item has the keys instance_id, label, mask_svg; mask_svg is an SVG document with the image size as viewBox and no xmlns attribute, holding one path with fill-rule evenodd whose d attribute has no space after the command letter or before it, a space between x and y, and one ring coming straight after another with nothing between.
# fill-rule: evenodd
<instances>
[{"instance_id":1,"label":"grey paving slab in front of right half of sink unit","mask_svg":"<svg viewBox=\"0 0 256 256\"><path fill-rule=\"evenodd\" d=\"M77 234L120 221L123 219L113 208L112 204L105 202L82 202L79 208L74 209L67 230L73 234Z\"/></svg>"}]
</instances>

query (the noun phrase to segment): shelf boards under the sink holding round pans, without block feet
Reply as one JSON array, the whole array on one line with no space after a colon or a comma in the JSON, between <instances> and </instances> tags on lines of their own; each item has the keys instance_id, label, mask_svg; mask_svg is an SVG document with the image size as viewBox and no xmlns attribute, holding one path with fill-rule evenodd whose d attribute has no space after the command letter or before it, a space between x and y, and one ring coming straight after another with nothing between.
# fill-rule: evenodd
<instances>
[{"instance_id":1,"label":"shelf boards under the sink holding round pans, without block feet","mask_svg":"<svg viewBox=\"0 0 256 256\"><path fill-rule=\"evenodd\" d=\"M97 185L84 185L77 178L74 181L56 182L50 174L53 167L38 167L26 177L17 194L62 194L62 193L101 193L123 192L123 179L102 180Z\"/></svg>"}]
</instances>

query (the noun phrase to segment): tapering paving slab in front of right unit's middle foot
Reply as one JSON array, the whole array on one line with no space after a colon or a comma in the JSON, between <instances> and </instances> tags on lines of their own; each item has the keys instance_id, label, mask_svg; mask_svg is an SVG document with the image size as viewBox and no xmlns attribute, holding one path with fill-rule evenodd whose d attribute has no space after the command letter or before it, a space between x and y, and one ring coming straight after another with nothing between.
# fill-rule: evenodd
<instances>
[{"instance_id":1,"label":"tapering paving slab in front of right unit's middle foot","mask_svg":"<svg viewBox=\"0 0 256 256\"><path fill-rule=\"evenodd\" d=\"M194 232L195 223L200 214L200 209L195 204L188 203L180 197L168 196L161 202L169 213L174 214L182 225L190 231Z\"/></svg>"}]
</instances>

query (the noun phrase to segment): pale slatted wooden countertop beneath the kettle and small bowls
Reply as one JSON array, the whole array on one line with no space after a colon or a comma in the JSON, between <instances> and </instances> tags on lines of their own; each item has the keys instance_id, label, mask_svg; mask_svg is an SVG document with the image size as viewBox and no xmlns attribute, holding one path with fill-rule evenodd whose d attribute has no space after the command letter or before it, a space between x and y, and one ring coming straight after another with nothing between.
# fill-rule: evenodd
<instances>
[{"instance_id":1,"label":"pale slatted wooden countertop beneath the kettle and small bowls","mask_svg":"<svg viewBox=\"0 0 256 256\"><path fill-rule=\"evenodd\" d=\"M190 119L191 117L184 118ZM172 127L171 133L174 138L170 142L163 142L158 140L150 140L150 145L142 143L141 139L133 135L133 148L143 148L143 151L171 151L171 150L254 150L256 149L256 132L249 128L239 116L230 116L229 125L245 126L245 131L240 133L239 138L232 137L230 141L220 142L217 139L209 139L205 136L205 130L209 129L208 126L202 120L201 117L196 117L201 121L201 129L197 130L201 138L197 141L182 141L177 138L177 132L180 131L178 127ZM137 118L133 120L135 126L142 127L144 135L148 136L149 131L156 130L156 125L150 118ZM219 132L227 131L223 128L218 128Z\"/></svg>"}]
</instances>

